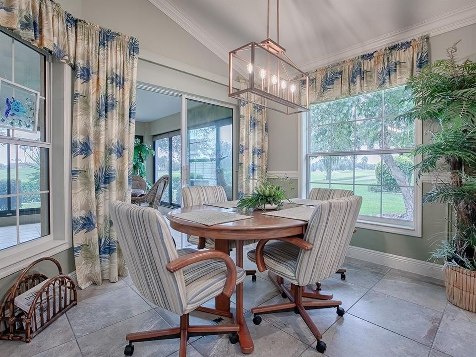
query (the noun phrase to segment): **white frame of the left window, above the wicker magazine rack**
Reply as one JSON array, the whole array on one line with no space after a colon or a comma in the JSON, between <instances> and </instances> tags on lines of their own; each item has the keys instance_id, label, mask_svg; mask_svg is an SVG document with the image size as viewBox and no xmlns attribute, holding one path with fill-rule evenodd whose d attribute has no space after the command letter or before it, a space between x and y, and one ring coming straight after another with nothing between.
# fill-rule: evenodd
<instances>
[{"instance_id":1,"label":"white frame of the left window, above the wicker magazine rack","mask_svg":"<svg viewBox=\"0 0 476 357\"><path fill-rule=\"evenodd\" d=\"M15 35L7 35L25 44ZM50 234L0 250L0 278L20 271L36 259L55 255L72 246L71 68L65 63L51 61L46 61L46 67L46 141L2 136L2 142L49 148ZM51 100L53 96L55 102Z\"/></svg>"}]
</instances>

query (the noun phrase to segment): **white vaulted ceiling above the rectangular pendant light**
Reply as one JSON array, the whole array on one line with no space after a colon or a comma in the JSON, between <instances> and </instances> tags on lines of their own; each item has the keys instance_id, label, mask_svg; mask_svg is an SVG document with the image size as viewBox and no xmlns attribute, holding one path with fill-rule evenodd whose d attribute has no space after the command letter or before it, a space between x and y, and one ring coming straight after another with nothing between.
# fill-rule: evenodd
<instances>
[{"instance_id":1,"label":"white vaulted ceiling above the rectangular pendant light","mask_svg":"<svg viewBox=\"0 0 476 357\"><path fill-rule=\"evenodd\" d=\"M223 60L266 38L267 0L149 1ZM475 13L475 0L281 0L280 44L298 66L310 69L405 36L469 25ZM276 40L276 0L270 26Z\"/></svg>"}]
</instances>

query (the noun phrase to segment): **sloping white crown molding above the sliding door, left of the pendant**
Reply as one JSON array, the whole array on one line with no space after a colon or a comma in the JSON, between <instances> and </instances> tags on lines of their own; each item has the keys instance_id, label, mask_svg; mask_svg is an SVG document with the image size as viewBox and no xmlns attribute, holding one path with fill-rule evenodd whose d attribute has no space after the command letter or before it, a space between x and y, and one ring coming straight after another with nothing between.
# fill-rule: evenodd
<instances>
[{"instance_id":1,"label":"sloping white crown molding above the sliding door, left of the pendant","mask_svg":"<svg viewBox=\"0 0 476 357\"><path fill-rule=\"evenodd\" d=\"M205 31L203 27L179 9L171 0L149 0L149 2L170 17L221 60L228 63L229 50L216 41L210 33Z\"/></svg>"}]
</instances>

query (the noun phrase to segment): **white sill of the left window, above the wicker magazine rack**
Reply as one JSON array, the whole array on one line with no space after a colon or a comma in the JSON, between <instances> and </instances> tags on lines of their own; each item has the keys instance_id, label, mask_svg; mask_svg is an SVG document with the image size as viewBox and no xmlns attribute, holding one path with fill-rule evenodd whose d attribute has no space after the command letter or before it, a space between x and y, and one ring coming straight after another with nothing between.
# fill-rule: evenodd
<instances>
[{"instance_id":1,"label":"white sill of the left window, above the wicker magazine rack","mask_svg":"<svg viewBox=\"0 0 476 357\"><path fill-rule=\"evenodd\" d=\"M0 251L0 279L24 269L39 258L58 254L70 247L71 243L66 240L55 240L53 236L47 236L4 249Z\"/></svg>"}]
</instances>

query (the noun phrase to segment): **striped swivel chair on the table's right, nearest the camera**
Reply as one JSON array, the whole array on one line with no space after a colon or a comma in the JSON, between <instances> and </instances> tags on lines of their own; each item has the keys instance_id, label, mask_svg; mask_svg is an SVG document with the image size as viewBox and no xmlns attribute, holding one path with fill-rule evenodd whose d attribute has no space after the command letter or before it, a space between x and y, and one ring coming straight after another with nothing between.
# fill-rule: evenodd
<instances>
[{"instance_id":1,"label":"striped swivel chair on the table's right, nearest the camera","mask_svg":"<svg viewBox=\"0 0 476 357\"><path fill-rule=\"evenodd\" d=\"M295 285L294 294L281 285L290 302L251 309L256 325L261 322L259 314L294 310L317 339L317 351L324 353L326 344L321 341L322 334L306 309L337 307L337 314L343 316L345 311L339 306L342 302L302 301L302 292L306 285L329 278L344 261L361 203L360 196L322 201L314 209L304 238L260 240L256 249L248 252L248 258L256 262L259 271L269 270Z\"/></svg>"}]
</instances>

